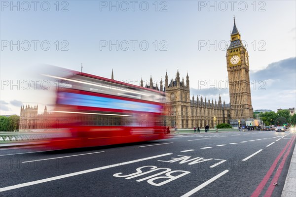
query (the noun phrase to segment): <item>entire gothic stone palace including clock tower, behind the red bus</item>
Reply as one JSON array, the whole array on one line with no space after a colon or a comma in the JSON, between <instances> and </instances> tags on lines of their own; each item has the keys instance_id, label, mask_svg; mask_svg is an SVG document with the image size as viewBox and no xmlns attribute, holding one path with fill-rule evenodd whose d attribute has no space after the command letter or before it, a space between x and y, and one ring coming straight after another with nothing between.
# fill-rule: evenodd
<instances>
[{"instance_id":1,"label":"entire gothic stone palace including clock tower, behind the red bus","mask_svg":"<svg viewBox=\"0 0 296 197\"><path fill-rule=\"evenodd\" d=\"M163 87L160 80L160 88L157 84L153 86L152 77L150 84L146 88L163 91L167 95L167 105L170 112L167 118L167 125L177 128L204 128L208 125L214 128L215 124L230 123L232 126L246 125L246 121L253 120L253 108L251 102L250 76L249 76L249 56L247 49L243 46L241 35L235 24L231 33L231 43L226 53L226 63L228 71L229 97L230 103L222 103L219 96L218 102L206 98L190 99L189 76L186 81L180 80L179 70L175 80L169 82L168 75L165 75ZM111 79L113 78L113 70ZM143 80L141 79L143 87ZM46 119L51 113L45 107L42 114L37 114L38 106L22 106L20 114L20 129L42 129L36 120ZM35 121L34 121L35 120Z\"/></svg>"}]
</instances>

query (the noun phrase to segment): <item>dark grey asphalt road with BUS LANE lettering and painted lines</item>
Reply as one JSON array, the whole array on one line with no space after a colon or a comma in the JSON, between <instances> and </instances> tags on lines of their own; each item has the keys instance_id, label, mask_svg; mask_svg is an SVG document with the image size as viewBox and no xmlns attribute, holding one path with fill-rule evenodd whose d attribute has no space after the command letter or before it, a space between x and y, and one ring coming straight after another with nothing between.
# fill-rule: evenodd
<instances>
[{"instance_id":1,"label":"dark grey asphalt road with BUS LANE lettering and painted lines","mask_svg":"<svg viewBox=\"0 0 296 197\"><path fill-rule=\"evenodd\" d=\"M2 148L0 196L280 197L294 146L295 132L249 131L63 151Z\"/></svg>"}]
</instances>

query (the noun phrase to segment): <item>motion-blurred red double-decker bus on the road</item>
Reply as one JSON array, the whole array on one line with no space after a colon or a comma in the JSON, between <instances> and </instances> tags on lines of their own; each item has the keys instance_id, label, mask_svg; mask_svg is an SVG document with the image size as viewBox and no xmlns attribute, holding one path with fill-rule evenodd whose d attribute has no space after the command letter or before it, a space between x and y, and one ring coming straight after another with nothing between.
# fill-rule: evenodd
<instances>
[{"instance_id":1,"label":"motion-blurred red double-decker bus on the road","mask_svg":"<svg viewBox=\"0 0 296 197\"><path fill-rule=\"evenodd\" d=\"M71 71L56 93L54 148L164 139L165 93Z\"/></svg>"}]
</instances>

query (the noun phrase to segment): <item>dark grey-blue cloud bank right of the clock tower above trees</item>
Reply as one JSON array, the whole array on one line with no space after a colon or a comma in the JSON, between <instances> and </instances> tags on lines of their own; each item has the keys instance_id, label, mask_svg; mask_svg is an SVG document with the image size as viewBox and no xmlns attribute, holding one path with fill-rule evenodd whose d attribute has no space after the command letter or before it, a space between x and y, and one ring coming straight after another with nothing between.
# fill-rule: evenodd
<instances>
[{"instance_id":1,"label":"dark grey-blue cloud bank right of the clock tower above trees","mask_svg":"<svg viewBox=\"0 0 296 197\"><path fill-rule=\"evenodd\" d=\"M250 72L252 105L254 109L295 107L296 57L269 64Z\"/></svg>"}]
</instances>

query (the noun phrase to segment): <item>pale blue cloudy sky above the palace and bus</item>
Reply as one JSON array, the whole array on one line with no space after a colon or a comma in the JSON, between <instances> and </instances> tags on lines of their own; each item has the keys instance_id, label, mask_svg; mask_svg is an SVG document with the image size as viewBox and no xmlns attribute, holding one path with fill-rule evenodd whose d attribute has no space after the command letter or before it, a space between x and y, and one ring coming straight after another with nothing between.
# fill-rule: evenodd
<instances>
[{"instance_id":1,"label":"pale blue cloudy sky above the palace and bus","mask_svg":"<svg viewBox=\"0 0 296 197\"><path fill-rule=\"evenodd\" d=\"M249 53L252 105L296 105L296 1L0 1L0 115L54 103L40 73L60 66L154 83L188 73L190 94L229 102L233 16ZM225 83L226 82L226 83Z\"/></svg>"}]
</instances>

